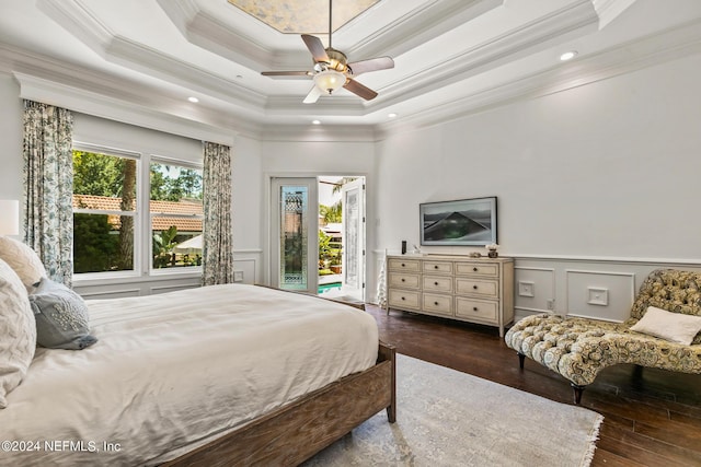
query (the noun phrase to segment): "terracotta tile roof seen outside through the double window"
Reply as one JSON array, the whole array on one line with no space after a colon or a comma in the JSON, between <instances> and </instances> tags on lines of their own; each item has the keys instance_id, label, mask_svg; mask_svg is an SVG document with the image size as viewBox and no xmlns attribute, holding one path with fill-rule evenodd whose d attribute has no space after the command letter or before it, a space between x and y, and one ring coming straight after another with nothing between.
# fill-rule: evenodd
<instances>
[{"instance_id":1,"label":"terracotta tile roof seen outside through the double window","mask_svg":"<svg viewBox=\"0 0 701 467\"><path fill-rule=\"evenodd\" d=\"M119 211L120 198L93 195L73 195L73 209L99 209L101 211ZM194 201L151 201L152 213L166 214L199 214L203 213L202 202ZM115 229L119 229L119 217L108 215L108 221ZM157 215L152 218L152 229L162 231L175 225L179 232L202 232L202 219L169 218Z\"/></svg>"}]
</instances>

